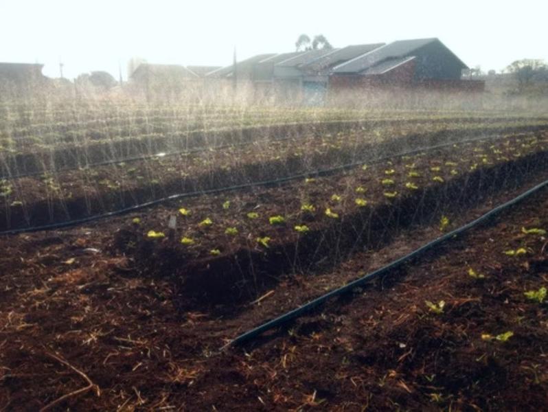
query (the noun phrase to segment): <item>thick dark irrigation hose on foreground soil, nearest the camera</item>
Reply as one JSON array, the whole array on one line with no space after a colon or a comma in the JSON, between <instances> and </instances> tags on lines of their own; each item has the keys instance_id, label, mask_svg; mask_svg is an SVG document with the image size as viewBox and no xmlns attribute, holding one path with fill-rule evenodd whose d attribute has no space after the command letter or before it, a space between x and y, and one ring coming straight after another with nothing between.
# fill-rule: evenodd
<instances>
[{"instance_id":1,"label":"thick dark irrigation hose on foreground soil, nearest the camera","mask_svg":"<svg viewBox=\"0 0 548 412\"><path fill-rule=\"evenodd\" d=\"M249 330L248 332L244 332L243 334L240 334L240 336L236 337L235 339L227 343L225 346L223 346L221 350L224 350L225 348L229 346L241 345L242 343L251 341L251 339L254 339L260 336L260 334L266 332L267 330L278 328L279 326L284 325L284 323L287 323L288 321L291 321L293 319L297 319L298 317L303 316L306 312L310 312L310 310L317 308L317 306L320 306L321 304L326 303L326 301L328 301L332 297L336 297L336 296L348 293L352 289L357 288L359 286L363 286L363 284L370 282L372 279L375 279L376 277L384 275L385 273L393 269L396 269L399 266L402 266L402 264L405 264L409 262L410 260L419 258L426 251L429 251L430 249L437 247L439 244L446 242L447 240L453 239L456 236L460 235L461 233L464 233L465 231L468 231L469 229L472 229L473 227L480 225L483 222L486 222L486 220L492 218L496 214L501 213L501 211L513 205L516 205L516 203L523 201L525 198L531 196L532 194L535 194L536 192L538 192L539 190L542 190L543 188L547 186L548 186L548 180L536 185L535 187L532 187L532 189L527 190L526 192L520 194L516 198L513 198L511 201L508 201L506 203L503 203L502 205L495 207L494 209L491 209L486 214L483 214L479 218L472 220L472 222L469 222L466 225L459 227L458 229L455 229L453 231L450 231L449 233L446 233L444 236L440 236L439 238L424 244L419 249L415 249L415 251L412 251L411 253L404 255L402 258L394 260L393 262L387 264L386 266L383 266L382 268L377 269L376 271L367 273L367 275L360 277L359 279L356 279L350 282L349 284L346 284L345 286L341 286L340 288L336 288L332 290L331 292L326 293L325 295L317 297L316 299L308 302L308 304L299 306L299 308L290 310L289 312L282 314L282 316L279 316L275 319L271 319L270 321L263 323L257 328L253 328L252 330Z\"/></svg>"}]
</instances>

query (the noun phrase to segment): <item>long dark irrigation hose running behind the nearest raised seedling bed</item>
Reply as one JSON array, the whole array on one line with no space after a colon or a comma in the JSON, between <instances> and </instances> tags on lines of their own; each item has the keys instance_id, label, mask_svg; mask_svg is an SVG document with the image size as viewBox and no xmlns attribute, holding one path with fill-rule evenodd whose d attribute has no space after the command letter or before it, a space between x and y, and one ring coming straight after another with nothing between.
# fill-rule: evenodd
<instances>
[{"instance_id":1,"label":"long dark irrigation hose running behind the nearest raised seedling bed","mask_svg":"<svg viewBox=\"0 0 548 412\"><path fill-rule=\"evenodd\" d=\"M495 135L496 138L505 139L505 137L500 137L499 135ZM297 179L306 179L310 176L327 176L329 174L333 174L336 172L341 172L344 170L349 170L352 168L356 168L358 166L364 165L364 164L378 164L383 161L393 159L395 157L403 157L403 156L409 156L409 155L417 155L421 152L428 152L431 150L436 150L439 148L444 148L447 146L453 146L454 144L463 144L463 143L470 143L474 141L481 141L481 140L490 140L493 139L493 136L488 137L475 137L472 139L466 139L461 141L451 141L444 144L439 144L436 146L430 146L429 148L419 148L419 149L413 149L408 150L407 152L397 153L396 155L389 155L385 157L380 157L375 160L361 160L361 161L355 161L352 163L347 163L345 165L336 166L334 168L328 168L328 169L322 169L322 170L315 170L312 172L304 172L299 174L293 174L292 176L286 176L278 179L271 179L267 181L259 181L259 182L251 182L251 183L242 183L241 185L233 185L228 187L218 187L217 189L210 189L210 190L203 190L201 192L187 192L187 193L178 193L178 194L172 194L171 196L167 196L164 198L159 198L154 201L141 203L139 205L134 205L130 207L126 207L124 209L119 209L115 211L109 211L104 214L99 214L95 216L89 216L87 218L80 218L75 220L68 220L67 222L57 222L52 223L49 225L42 225L42 226L36 226L36 227L23 227L20 229L10 229L5 231L0 231L0 236L2 235L16 235L19 233L30 233L35 231L45 231L45 230L54 230L54 229L62 229L64 227L71 227L71 226L78 226L83 225L84 223L93 222L95 220L102 220L105 218L111 218L114 216L120 216L122 214L127 214L133 211L137 211L140 209L145 209L146 207L159 205L161 203L165 203L168 201L175 201L182 198L192 198L192 197L198 197L198 196L204 196L207 194L217 194L217 193L223 193L223 192L233 192L235 190L242 190L242 189L249 189L250 187L258 187L258 186L273 186L273 185L279 185L282 183L286 183L288 181L294 181Z\"/></svg>"}]
</instances>

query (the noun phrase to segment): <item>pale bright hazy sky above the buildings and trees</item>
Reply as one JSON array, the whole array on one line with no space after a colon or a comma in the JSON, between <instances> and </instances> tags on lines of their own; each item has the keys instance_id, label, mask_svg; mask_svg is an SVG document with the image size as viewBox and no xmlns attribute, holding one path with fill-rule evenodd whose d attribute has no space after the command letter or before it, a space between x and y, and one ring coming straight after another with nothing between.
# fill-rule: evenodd
<instances>
[{"instance_id":1,"label":"pale bright hazy sky above the buildings and trees","mask_svg":"<svg viewBox=\"0 0 548 412\"><path fill-rule=\"evenodd\" d=\"M124 79L132 57L229 65L291 52L299 34L334 47L437 37L469 67L548 62L548 1L488 0L0 0L0 62L40 62L65 78L95 70Z\"/></svg>"}]
</instances>

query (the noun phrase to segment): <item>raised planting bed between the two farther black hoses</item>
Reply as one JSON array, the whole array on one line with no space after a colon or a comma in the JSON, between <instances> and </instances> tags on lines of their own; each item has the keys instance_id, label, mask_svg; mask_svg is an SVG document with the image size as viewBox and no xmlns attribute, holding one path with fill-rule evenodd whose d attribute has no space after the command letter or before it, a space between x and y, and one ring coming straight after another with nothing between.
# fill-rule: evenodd
<instances>
[{"instance_id":1,"label":"raised planting bed between the two farther black hoses","mask_svg":"<svg viewBox=\"0 0 548 412\"><path fill-rule=\"evenodd\" d=\"M396 133L388 129L380 136L350 131L283 141L265 140L194 155L4 179L0 181L3 194L0 196L3 211L0 230L84 218L173 194L286 178L464 139L496 138L501 136L501 130L505 133L544 130L543 126L449 130L445 127L411 135L407 130L400 131L400 136L388 135Z\"/></svg>"}]
</instances>

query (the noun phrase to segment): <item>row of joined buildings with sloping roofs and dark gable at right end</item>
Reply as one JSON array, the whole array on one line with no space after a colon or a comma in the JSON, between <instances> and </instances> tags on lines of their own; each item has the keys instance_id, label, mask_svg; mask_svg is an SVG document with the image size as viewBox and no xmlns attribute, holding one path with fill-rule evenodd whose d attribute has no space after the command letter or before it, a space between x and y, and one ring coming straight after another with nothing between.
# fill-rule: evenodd
<instances>
[{"instance_id":1,"label":"row of joined buildings with sloping roofs and dark gable at right end","mask_svg":"<svg viewBox=\"0 0 548 412\"><path fill-rule=\"evenodd\" d=\"M350 45L341 49L261 54L212 71L207 78L253 84L261 96L321 103L326 94L351 89L402 87L483 91L461 79L468 67L437 38Z\"/></svg>"}]
</instances>

